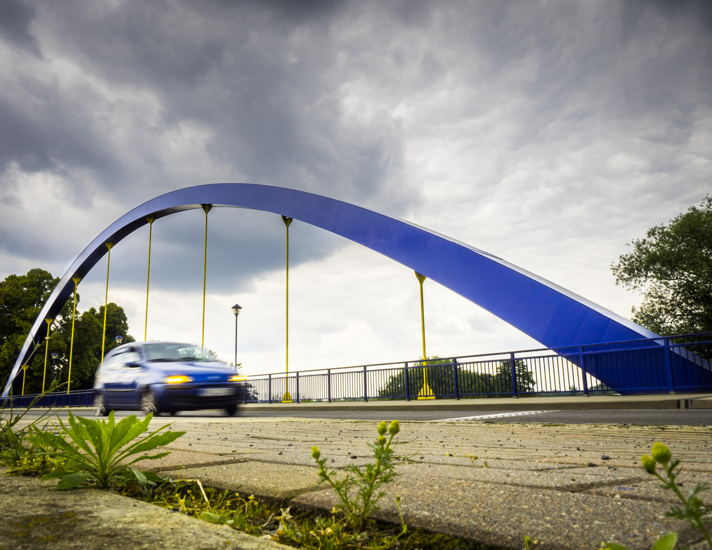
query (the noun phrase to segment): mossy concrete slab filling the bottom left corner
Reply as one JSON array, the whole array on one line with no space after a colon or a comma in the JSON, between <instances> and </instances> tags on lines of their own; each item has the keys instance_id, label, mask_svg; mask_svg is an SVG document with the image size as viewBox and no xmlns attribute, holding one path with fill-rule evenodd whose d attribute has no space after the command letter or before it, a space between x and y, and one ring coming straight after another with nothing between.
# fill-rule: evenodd
<instances>
[{"instance_id":1,"label":"mossy concrete slab filling the bottom left corner","mask_svg":"<svg viewBox=\"0 0 712 550\"><path fill-rule=\"evenodd\" d=\"M2 550L287 550L110 491L51 491L56 481L0 472Z\"/></svg>"}]
</instances>

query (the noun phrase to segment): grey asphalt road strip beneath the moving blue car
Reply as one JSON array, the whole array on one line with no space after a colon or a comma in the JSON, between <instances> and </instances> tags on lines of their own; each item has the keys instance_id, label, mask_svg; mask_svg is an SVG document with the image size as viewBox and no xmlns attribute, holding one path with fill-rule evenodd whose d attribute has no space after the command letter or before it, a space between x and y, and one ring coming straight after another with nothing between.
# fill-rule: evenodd
<instances>
[{"instance_id":1,"label":"grey asphalt road strip beneath the moving blue car","mask_svg":"<svg viewBox=\"0 0 712 550\"><path fill-rule=\"evenodd\" d=\"M60 417L67 417L66 409L59 410ZM91 410L75 410L75 415L93 416ZM31 411L29 417L40 415L39 411ZM135 414L132 411L117 411L116 416ZM560 424L629 424L629 425L712 425L712 409L623 409L623 410L553 410L546 412L534 411L397 411L384 413L382 411L274 411L251 412L241 410L237 417L268 418L268 417L301 417L330 418L335 420L388 420L396 418L402 421L449 420L453 418L468 419L475 422L541 422ZM169 420L169 416L164 416ZM203 410L192 413L178 413L177 417L214 417L227 418L220 410Z\"/></svg>"}]
</instances>

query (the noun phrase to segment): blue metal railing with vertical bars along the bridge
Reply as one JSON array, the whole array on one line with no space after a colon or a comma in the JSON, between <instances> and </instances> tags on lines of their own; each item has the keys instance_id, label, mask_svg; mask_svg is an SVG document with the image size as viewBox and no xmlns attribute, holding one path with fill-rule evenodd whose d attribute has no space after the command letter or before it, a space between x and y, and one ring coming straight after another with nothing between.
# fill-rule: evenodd
<instances>
[{"instance_id":1,"label":"blue metal railing with vertical bars along the bridge","mask_svg":"<svg viewBox=\"0 0 712 550\"><path fill-rule=\"evenodd\" d=\"M712 392L712 333L538 348L247 377L251 403L606 393ZM424 392L427 380L429 395ZM290 399L286 399L286 397ZM16 408L37 395L9 398ZM36 407L93 404L94 390L51 393ZM6 402L6 407L9 402Z\"/></svg>"}]
</instances>

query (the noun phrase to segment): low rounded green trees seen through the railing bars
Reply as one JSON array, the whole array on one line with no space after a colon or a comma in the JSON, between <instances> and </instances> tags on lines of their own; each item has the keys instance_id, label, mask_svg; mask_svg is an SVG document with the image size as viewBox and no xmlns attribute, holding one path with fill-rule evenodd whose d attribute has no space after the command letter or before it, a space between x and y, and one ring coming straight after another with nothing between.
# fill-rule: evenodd
<instances>
[{"instance_id":1,"label":"low rounded green trees seen through the railing bars","mask_svg":"<svg viewBox=\"0 0 712 550\"><path fill-rule=\"evenodd\" d=\"M455 394L455 381L450 360L438 356L426 357L426 361L414 363L413 367L426 365L428 385L435 395L445 397ZM512 368L509 360L499 361L495 373L478 373L468 370L467 367L458 365L457 386L459 395L487 394L487 393L512 393ZM424 368L408 369L409 395L414 398L423 387ZM517 376L517 391L532 392L536 381L523 360L515 360ZM390 398L405 395L405 376L399 372L387 380L378 391L379 398Z\"/></svg>"}]
</instances>

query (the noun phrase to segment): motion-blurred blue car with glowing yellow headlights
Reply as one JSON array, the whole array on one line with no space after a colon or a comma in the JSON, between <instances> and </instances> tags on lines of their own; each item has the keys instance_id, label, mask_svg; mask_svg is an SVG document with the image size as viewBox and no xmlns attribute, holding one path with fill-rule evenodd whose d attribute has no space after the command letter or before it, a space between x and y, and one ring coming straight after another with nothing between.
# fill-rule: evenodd
<instances>
[{"instance_id":1,"label":"motion-blurred blue car with glowing yellow headlights","mask_svg":"<svg viewBox=\"0 0 712 550\"><path fill-rule=\"evenodd\" d=\"M245 400L246 378L214 354L187 343L130 342L112 349L94 380L94 414L224 409Z\"/></svg>"}]
</instances>

